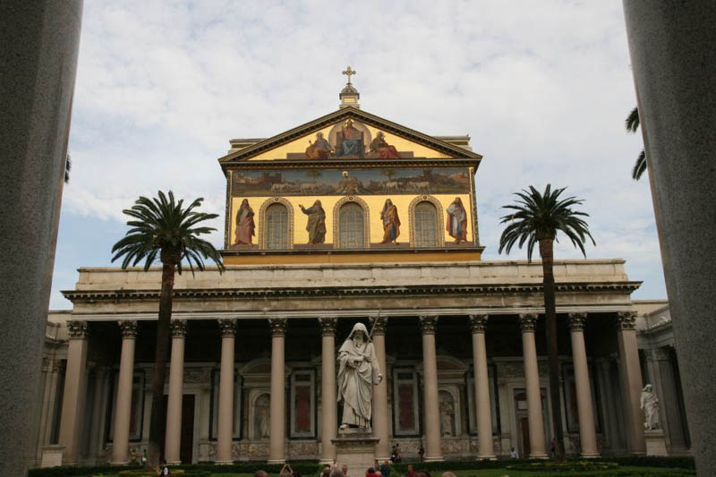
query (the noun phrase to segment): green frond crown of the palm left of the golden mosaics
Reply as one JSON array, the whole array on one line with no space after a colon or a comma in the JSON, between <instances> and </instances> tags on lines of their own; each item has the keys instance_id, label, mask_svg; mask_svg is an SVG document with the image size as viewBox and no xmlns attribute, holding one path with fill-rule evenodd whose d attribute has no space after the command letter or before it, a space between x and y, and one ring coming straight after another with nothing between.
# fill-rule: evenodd
<instances>
[{"instance_id":1,"label":"green frond crown of the palm left of the golden mosaics","mask_svg":"<svg viewBox=\"0 0 716 477\"><path fill-rule=\"evenodd\" d=\"M221 257L214 246L200 235L210 234L214 227L200 226L201 222L212 220L217 214L199 212L203 198L193 200L184 207L183 200L175 200L174 192L167 194L159 191L157 197L149 199L141 196L131 209L124 209L125 215L132 217L127 222L130 228L122 239L112 247L115 254L112 261L122 260L122 268L136 266L144 260L147 270L162 257L178 260L175 265L182 273L182 262L189 268L204 269L204 260L212 260L219 271L224 270ZM166 259L164 259L166 260Z\"/></svg>"}]
</instances>

